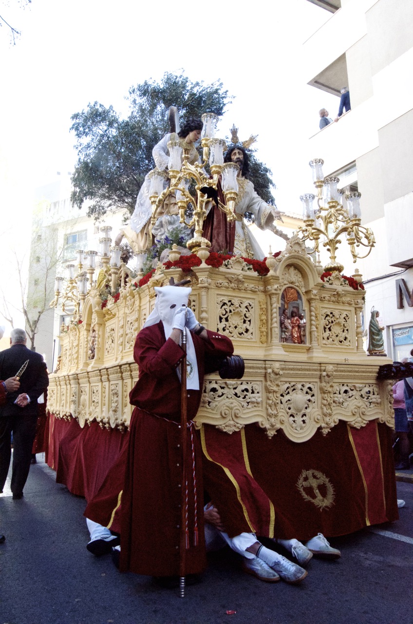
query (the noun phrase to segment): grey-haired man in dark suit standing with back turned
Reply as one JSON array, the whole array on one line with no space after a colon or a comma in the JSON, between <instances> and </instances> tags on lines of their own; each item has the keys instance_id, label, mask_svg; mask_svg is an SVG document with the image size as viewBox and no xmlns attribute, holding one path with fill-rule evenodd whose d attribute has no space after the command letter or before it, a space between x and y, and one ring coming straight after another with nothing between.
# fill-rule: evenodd
<instances>
[{"instance_id":1,"label":"grey-haired man in dark suit standing with back turned","mask_svg":"<svg viewBox=\"0 0 413 624\"><path fill-rule=\"evenodd\" d=\"M9 471L13 432L11 491L13 499L21 499L36 434L37 399L49 385L49 377L41 354L27 349L24 329L12 329L10 344L0 352L0 379L16 375L26 360L28 363L21 374L19 393L7 392L6 402L0 406L0 492Z\"/></svg>"}]
</instances>

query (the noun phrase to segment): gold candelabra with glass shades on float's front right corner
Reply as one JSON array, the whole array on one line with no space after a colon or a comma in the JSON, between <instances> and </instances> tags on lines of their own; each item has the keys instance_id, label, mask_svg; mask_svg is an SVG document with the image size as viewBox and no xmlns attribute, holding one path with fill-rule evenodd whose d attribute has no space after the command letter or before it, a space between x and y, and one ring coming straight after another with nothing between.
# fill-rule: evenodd
<instances>
[{"instance_id":1,"label":"gold candelabra with glass shades on float's front right corner","mask_svg":"<svg viewBox=\"0 0 413 624\"><path fill-rule=\"evenodd\" d=\"M346 236L353 262L356 262L357 258L366 258L376 240L372 230L361 225L359 205L361 193L347 193L347 207L344 207L343 198L341 198L342 203L339 201L339 195L344 195L344 192L337 188L339 178L324 178L323 164L324 160L321 158L314 158L309 162L313 170L313 182L317 192L317 207L313 208L313 202L316 198L313 193L300 196L301 202L303 202L304 225L299 227L298 231L303 240L314 241L314 250L317 252L319 251L319 241L324 238L323 246L330 254L330 261L324 266L324 271L339 271L341 273L344 266L336 260L336 251L341 243L340 236ZM360 246L367 250L364 255L360 253Z\"/></svg>"}]
</instances>

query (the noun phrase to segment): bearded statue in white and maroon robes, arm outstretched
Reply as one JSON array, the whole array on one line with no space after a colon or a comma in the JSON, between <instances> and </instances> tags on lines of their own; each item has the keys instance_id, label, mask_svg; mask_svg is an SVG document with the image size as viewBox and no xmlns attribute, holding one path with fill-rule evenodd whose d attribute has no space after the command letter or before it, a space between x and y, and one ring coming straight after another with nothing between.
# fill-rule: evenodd
<instances>
[{"instance_id":1,"label":"bearded statue in white and maroon robes, arm outstretched","mask_svg":"<svg viewBox=\"0 0 413 624\"><path fill-rule=\"evenodd\" d=\"M225 162L238 165L238 197L235 200L235 222L228 222L226 215L214 205L206 216L203 235L211 242L211 251L234 253L243 258L263 260L265 254L244 221L245 213L252 213L255 225L260 230L271 230L277 236L288 240L288 236L275 227L274 221L282 221L275 206L270 206L255 192L248 180L250 162L246 150L234 145L225 154ZM222 197L223 200L223 197Z\"/></svg>"}]
</instances>

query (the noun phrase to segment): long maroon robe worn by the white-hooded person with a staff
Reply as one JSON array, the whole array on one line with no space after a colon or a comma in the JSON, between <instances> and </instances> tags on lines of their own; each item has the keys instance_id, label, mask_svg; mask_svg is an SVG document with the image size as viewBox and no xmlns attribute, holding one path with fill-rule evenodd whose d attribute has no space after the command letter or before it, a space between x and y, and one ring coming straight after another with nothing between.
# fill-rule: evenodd
<instances>
[{"instance_id":1,"label":"long maroon robe worn by the white-hooded person with a staff","mask_svg":"<svg viewBox=\"0 0 413 624\"><path fill-rule=\"evenodd\" d=\"M192 334L200 390L187 392L188 421L197 415L203 377L215 371L218 359L233 353L230 339L208 331L209 340ZM181 384L176 368L183 351L165 341L162 322L142 329L134 359L139 380L130 392L135 405L122 493L120 570L155 576L179 574L182 447ZM186 574L206 566L203 530L202 451L194 427L187 432L186 474L188 549Z\"/></svg>"}]
</instances>

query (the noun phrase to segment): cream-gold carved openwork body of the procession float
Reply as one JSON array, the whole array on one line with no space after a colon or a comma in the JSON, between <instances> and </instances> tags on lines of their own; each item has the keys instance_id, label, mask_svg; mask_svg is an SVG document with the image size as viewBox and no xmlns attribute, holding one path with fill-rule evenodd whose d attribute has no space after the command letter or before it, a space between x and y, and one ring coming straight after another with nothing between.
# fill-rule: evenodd
<instances>
[{"instance_id":1,"label":"cream-gold carved openwork body of the procession float","mask_svg":"<svg viewBox=\"0 0 413 624\"><path fill-rule=\"evenodd\" d=\"M176 268L172 273L175 281L188 276ZM230 434L257 422L269 437L281 429L304 442L318 429L328 435L339 421L393 425L391 384L376 381L385 360L376 364L362 349L362 292L341 276L323 283L301 239L288 241L266 276L231 258L220 268L195 266L190 277L198 320L229 336L245 360L243 379L206 376L197 426L207 422ZM104 310L97 296L86 297L86 321L60 336L51 412L76 417L81 426L93 420L106 429L129 425L129 392L138 376L135 336L153 309L153 286L168 280L162 268L142 288L127 284ZM306 320L301 343L282 341L279 314L286 303Z\"/></svg>"}]
</instances>

